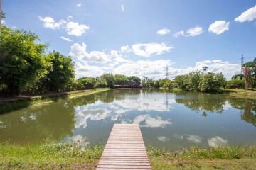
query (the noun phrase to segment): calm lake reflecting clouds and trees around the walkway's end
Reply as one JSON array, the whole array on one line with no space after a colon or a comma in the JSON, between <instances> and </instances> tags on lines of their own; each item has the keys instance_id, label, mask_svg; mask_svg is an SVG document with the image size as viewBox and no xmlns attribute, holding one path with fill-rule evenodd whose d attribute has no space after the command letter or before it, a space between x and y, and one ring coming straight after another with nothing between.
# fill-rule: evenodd
<instances>
[{"instance_id":1,"label":"calm lake reflecting clouds and trees around the walkway's end","mask_svg":"<svg viewBox=\"0 0 256 170\"><path fill-rule=\"evenodd\" d=\"M256 142L256 101L221 94L118 89L0 115L0 142L105 144L114 123L139 123L146 145Z\"/></svg>"}]
</instances>

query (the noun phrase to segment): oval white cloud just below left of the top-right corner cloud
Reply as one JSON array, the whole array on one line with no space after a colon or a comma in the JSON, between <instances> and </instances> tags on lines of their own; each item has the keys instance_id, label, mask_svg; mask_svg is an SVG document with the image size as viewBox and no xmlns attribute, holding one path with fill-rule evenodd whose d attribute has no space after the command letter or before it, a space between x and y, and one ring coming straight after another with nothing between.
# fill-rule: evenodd
<instances>
[{"instance_id":1,"label":"oval white cloud just below left of the top-right corner cloud","mask_svg":"<svg viewBox=\"0 0 256 170\"><path fill-rule=\"evenodd\" d=\"M214 23L210 24L208 31L215 33L217 35L228 31L230 28L230 23L226 21L215 21Z\"/></svg>"}]
</instances>

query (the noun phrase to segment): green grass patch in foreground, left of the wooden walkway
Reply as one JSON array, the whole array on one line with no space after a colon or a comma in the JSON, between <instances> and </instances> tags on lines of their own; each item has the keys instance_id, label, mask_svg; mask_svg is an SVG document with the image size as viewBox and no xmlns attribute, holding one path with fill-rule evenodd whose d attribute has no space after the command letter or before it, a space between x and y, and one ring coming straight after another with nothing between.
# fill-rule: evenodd
<instances>
[{"instance_id":1,"label":"green grass patch in foreground, left of the wooden walkway","mask_svg":"<svg viewBox=\"0 0 256 170\"><path fill-rule=\"evenodd\" d=\"M0 169L94 169L102 150L75 144L1 144Z\"/></svg>"}]
</instances>

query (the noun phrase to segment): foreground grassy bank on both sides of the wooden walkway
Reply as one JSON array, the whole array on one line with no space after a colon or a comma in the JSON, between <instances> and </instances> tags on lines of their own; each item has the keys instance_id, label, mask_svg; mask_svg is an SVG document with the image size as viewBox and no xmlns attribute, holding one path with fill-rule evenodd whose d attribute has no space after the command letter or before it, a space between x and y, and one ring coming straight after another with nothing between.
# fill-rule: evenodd
<instances>
[{"instance_id":1,"label":"foreground grassy bank on both sides of the wooden walkway","mask_svg":"<svg viewBox=\"0 0 256 170\"><path fill-rule=\"evenodd\" d=\"M0 145L0 169L95 169L103 147L74 144ZM254 169L256 146L193 147L180 152L148 147L152 169Z\"/></svg>"}]
</instances>

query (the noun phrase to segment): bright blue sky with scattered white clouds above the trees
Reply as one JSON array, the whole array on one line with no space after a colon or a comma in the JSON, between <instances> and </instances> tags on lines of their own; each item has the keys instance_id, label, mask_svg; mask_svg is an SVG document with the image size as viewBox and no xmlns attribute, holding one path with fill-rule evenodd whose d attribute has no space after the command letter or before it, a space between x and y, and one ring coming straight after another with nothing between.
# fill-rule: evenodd
<instances>
[{"instance_id":1,"label":"bright blue sky with scattered white clouds above the trees","mask_svg":"<svg viewBox=\"0 0 256 170\"><path fill-rule=\"evenodd\" d=\"M70 55L76 77L169 78L208 66L229 79L256 57L256 1L4 0L6 26Z\"/></svg>"}]
</instances>

